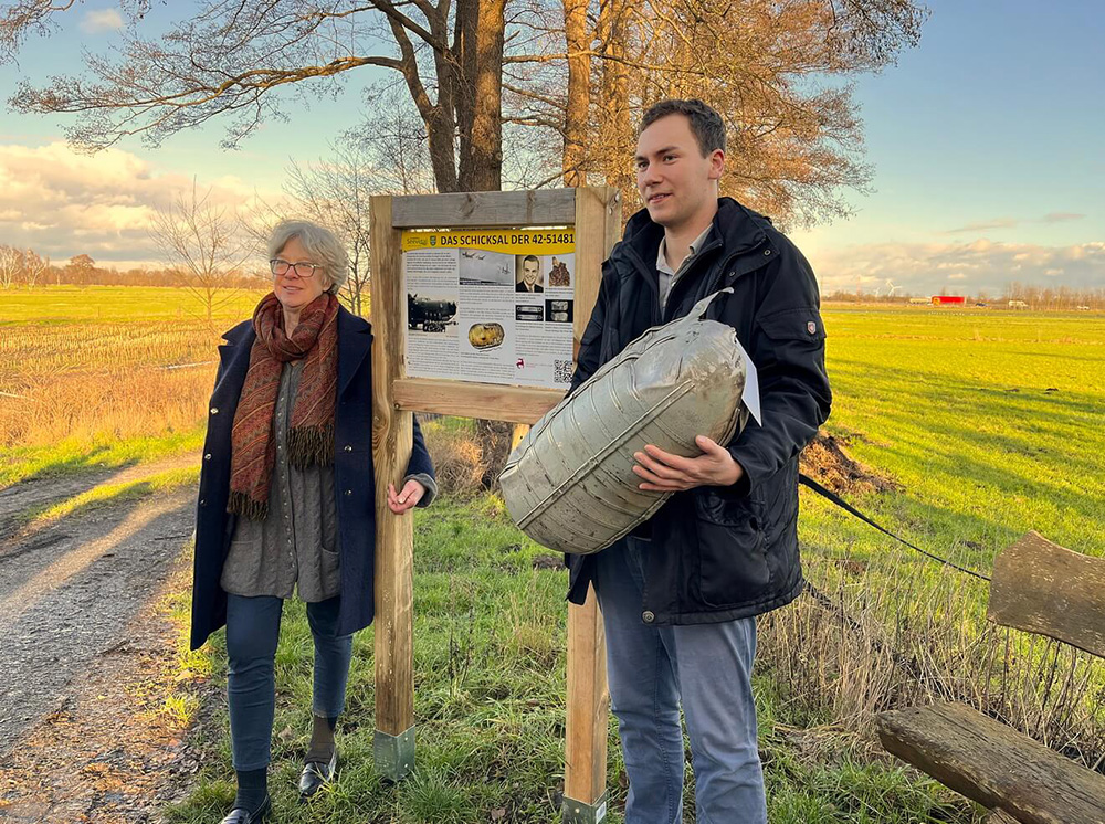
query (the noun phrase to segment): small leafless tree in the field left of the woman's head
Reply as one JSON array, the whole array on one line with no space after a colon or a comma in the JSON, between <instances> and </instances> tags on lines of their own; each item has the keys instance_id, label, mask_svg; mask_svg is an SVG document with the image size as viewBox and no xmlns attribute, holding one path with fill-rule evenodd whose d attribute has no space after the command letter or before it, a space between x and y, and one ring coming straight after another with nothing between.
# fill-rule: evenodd
<instances>
[{"instance_id":1,"label":"small leafless tree in the field left of the woman's head","mask_svg":"<svg viewBox=\"0 0 1105 824\"><path fill-rule=\"evenodd\" d=\"M193 180L188 192L177 192L168 207L155 211L148 231L165 263L177 272L179 285L199 299L203 318L213 327L214 311L236 296L231 275L253 253L238 215L213 203L210 189L200 193Z\"/></svg>"}]
</instances>

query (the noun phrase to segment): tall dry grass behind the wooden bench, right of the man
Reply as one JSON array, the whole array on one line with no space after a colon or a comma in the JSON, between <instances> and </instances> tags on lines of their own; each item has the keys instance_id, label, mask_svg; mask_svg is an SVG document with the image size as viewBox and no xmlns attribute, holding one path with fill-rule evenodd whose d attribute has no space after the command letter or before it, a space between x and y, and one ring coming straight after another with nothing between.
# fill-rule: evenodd
<instances>
[{"instance_id":1,"label":"tall dry grass behind the wooden bench, right of the man","mask_svg":"<svg viewBox=\"0 0 1105 824\"><path fill-rule=\"evenodd\" d=\"M806 547L808 591L761 619L761 655L811 726L870 737L884 709L957 700L1091 768L1105 759L1105 663L986 620L986 581L887 549Z\"/></svg>"}]
</instances>

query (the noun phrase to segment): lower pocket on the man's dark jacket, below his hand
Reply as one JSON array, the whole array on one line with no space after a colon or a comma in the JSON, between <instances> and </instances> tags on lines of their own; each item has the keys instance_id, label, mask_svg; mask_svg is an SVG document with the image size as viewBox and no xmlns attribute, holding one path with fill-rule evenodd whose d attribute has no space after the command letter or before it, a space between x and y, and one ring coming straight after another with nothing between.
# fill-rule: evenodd
<instances>
[{"instance_id":1,"label":"lower pocket on the man's dark jacket, below his hand","mask_svg":"<svg viewBox=\"0 0 1105 824\"><path fill-rule=\"evenodd\" d=\"M703 487L695 495L702 601L723 608L756 601L771 585L764 521L753 497L734 499Z\"/></svg>"}]
</instances>

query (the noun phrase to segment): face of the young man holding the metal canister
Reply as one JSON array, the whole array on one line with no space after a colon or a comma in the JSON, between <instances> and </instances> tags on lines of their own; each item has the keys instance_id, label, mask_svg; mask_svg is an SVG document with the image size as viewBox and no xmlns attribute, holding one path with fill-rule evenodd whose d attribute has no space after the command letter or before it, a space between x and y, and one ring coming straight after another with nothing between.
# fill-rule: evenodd
<instances>
[{"instance_id":1,"label":"face of the young man holding the metal canister","mask_svg":"<svg viewBox=\"0 0 1105 824\"><path fill-rule=\"evenodd\" d=\"M725 152L702 156L686 115L667 115L651 124L636 140L636 188L649 215L678 230L717 200Z\"/></svg>"}]
</instances>

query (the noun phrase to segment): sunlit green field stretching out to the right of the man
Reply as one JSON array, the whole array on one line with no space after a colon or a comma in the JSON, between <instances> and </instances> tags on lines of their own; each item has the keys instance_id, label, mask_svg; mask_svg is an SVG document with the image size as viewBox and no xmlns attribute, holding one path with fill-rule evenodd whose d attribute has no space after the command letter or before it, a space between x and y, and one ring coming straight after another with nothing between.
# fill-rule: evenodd
<instances>
[{"instance_id":1,"label":"sunlit green field stretching out to the right of the man","mask_svg":"<svg viewBox=\"0 0 1105 824\"><path fill-rule=\"evenodd\" d=\"M828 429L903 485L863 501L878 517L981 569L1029 529L1105 554L1105 318L831 308L825 326ZM886 546L803 505L809 543Z\"/></svg>"}]
</instances>

